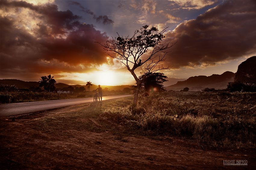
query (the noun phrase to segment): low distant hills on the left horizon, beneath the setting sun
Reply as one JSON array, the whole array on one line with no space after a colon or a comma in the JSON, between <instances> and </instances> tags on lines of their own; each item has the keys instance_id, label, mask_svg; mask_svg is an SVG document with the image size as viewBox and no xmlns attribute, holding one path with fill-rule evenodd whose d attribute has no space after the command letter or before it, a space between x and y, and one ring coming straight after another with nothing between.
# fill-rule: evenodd
<instances>
[{"instance_id":1,"label":"low distant hills on the left horizon, beneath the setting sun","mask_svg":"<svg viewBox=\"0 0 256 170\"><path fill-rule=\"evenodd\" d=\"M0 84L4 84L4 85L15 85L17 88L30 88L33 86L39 86L39 82L25 82L22 80L17 80L17 79L0 79ZM64 87L81 87L84 86L86 91L89 91L89 89L87 89L87 87L85 85L68 85L65 83L57 83L55 85L56 88L64 88ZM126 87L131 87L131 85L119 85L119 86L106 86L106 85L102 85L101 88L105 89L108 88L109 91L111 90L123 90ZM95 90L96 88L98 88L98 85L92 85L90 87L90 91Z\"/></svg>"}]
</instances>

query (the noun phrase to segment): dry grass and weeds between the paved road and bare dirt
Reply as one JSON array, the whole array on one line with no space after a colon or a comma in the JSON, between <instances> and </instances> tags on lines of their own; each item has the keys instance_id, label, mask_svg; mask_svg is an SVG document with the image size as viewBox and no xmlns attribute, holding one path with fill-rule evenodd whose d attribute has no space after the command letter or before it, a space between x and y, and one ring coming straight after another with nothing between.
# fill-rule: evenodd
<instances>
[{"instance_id":1,"label":"dry grass and weeds between the paved road and bare dirt","mask_svg":"<svg viewBox=\"0 0 256 170\"><path fill-rule=\"evenodd\" d=\"M214 148L255 148L256 93L177 92L90 103L81 109L37 120L35 128L102 132L152 139L180 136ZM85 119L94 119L95 126ZM122 130L118 127L124 127Z\"/></svg>"}]
</instances>

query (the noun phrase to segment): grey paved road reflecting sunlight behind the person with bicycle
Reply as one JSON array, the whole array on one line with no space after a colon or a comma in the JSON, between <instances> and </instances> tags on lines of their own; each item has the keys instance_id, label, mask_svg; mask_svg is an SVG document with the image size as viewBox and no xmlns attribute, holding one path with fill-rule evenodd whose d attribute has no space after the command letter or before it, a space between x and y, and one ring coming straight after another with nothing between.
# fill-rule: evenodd
<instances>
[{"instance_id":1,"label":"grey paved road reflecting sunlight behind the person with bicycle","mask_svg":"<svg viewBox=\"0 0 256 170\"><path fill-rule=\"evenodd\" d=\"M102 101L117 99L122 97L128 97L128 95L118 95L118 96L104 96ZM80 99L64 99L64 100L49 100L41 102L27 102L27 103L11 103L0 105L0 117L14 116L27 114L32 112L39 112L43 110L56 109L65 106L78 105L83 103L93 102L93 98L80 98Z\"/></svg>"}]
</instances>

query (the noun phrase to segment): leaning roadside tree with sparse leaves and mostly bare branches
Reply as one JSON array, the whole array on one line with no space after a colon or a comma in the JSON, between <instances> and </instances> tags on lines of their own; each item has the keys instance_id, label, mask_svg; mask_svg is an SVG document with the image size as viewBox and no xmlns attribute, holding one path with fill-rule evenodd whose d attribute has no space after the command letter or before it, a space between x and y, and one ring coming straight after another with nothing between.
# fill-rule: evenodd
<instances>
[{"instance_id":1,"label":"leaning roadside tree with sparse leaves and mostly bare branches","mask_svg":"<svg viewBox=\"0 0 256 170\"><path fill-rule=\"evenodd\" d=\"M171 68L170 65L164 67L161 63L162 61L165 61L165 55L170 52L166 51L166 49L169 49L174 45L170 43L161 43L161 40L164 38L163 34L167 28L158 32L158 28L152 27L148 29L148 25L145 25L139 30L136 30L131 38L129 38L129 36L124 38L120 37L117 33L117 38L112 37L112 40L107 41L105 44L96 42L103 46L103 49L106 52L111 52L108 53L108 55L121 60L121 63L123 63L133 75L137 84L133 99L134 104L138 101L139 90L142 84L135 73L136 68L141 67L141 71L144 74ZM158 52L162 52L163 55L158 56Z\"/></svg>"}]
</instances>

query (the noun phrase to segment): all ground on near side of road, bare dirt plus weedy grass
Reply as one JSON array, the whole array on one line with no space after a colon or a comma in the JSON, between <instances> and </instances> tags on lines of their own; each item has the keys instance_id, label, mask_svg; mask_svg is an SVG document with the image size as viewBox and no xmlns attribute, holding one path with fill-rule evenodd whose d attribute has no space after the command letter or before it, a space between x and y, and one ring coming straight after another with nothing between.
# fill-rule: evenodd
<instances>
[{"instance_id":1,"label":"all ground on near side of road, bare dirt plus weedy grass","mask_svg":"<svg viewBox=\"0 0 256 170\"><path fill-rule=\"evenodd\" d=\"M1 118L0 166L219 169L223 160L247 160L246 169L256 168L256 93L164 92L132 101Z\"/></svg>"}]
</instances>

